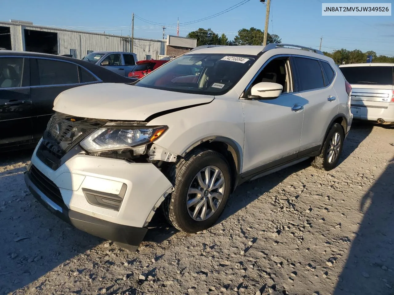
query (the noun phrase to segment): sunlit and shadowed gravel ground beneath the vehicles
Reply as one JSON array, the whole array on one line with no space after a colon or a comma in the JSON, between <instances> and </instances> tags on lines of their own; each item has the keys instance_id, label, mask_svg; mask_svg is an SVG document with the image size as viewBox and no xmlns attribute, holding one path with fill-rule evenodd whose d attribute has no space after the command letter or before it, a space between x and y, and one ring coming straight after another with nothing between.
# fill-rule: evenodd
<instances>
[{"instance_id":1,"label":"sunlit and shadowed gravel ground beneath the vehicles","mask_svg":"<svg viewBox=\"0 0 394 295\"><path fill-rule=\"evenodd\" d=\"M394 129L353 124L342 163L245 183L201 234L154 217L138 252L76 230L0 155L0 294L394 294Z\"/></svg>"}]
</instances>

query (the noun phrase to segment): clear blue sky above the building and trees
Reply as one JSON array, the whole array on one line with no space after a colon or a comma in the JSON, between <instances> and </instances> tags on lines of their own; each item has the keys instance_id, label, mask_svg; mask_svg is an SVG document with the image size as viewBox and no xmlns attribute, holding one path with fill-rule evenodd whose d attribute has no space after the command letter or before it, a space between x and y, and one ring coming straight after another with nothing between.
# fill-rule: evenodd
<instances>
[{"instance_id":1,"label":"clear blue sky above the building and trees","mask_svg":"<svg viewBox=\"0 0 394 295\"><path fill-rule=\"evenodd\" d=\"M132 13L134 36L162 39L165 35L186 35L198 28L212 29L229 40L242 28L264 30L266 6L260 0L244 0L231 11L200 22L194 20L215 15L241 0L0 0L0 20L31 21L42 26L72 30L129 35ZM322 16L324 3L381 3L388 0L271 0L268 32L277 34L282 43L319 48L374 50L378 55L394 56L394 15L392 16ZM392 5L394 9L394 5Z\"/></svg>"}]
</instances>

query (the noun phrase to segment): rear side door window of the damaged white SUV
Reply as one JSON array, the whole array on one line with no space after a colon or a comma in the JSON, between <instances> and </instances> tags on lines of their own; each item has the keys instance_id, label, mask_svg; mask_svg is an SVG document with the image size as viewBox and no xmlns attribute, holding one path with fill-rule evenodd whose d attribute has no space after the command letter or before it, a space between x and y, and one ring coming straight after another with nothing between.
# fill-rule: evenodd
<instances>
[{"instance_id":1,"label":"rear side door window of the damaged white SUV","mask_svg":"<svg viewBox=\"0 0 394 295\"><path fill-rule=\"evenodd\" d=\"M298 70L299 91L324 87L322 68L316 59L295 57L294 60Z\"/></svg>"}]
</instances>

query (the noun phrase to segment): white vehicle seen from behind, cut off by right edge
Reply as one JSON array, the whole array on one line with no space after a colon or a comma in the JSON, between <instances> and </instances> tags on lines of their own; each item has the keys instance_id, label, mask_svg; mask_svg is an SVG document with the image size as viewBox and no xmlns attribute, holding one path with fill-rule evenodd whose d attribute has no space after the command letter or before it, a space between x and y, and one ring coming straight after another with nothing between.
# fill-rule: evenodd
<instances>
[{"instance_id":1,"label":"white vehicle seen from behind, cut off by right edge","mask_svg":"<svg viewBox=\"0 0 394 295\"><path fill-rule=\"evenodd\" d=\"M394 124L394 64L340 65L352 87L351 112L355 119Z\"/></svg>"}]
</instances>

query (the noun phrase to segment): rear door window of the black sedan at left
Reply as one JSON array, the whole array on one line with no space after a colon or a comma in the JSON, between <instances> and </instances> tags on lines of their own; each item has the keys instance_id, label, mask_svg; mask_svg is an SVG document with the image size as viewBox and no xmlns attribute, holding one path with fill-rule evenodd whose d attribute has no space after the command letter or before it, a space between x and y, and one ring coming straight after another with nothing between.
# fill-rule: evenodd
<instances>
[{"instance_id":1,"label":"rear door window of the black sedan at left","mask_svg":"<svg viewBox=\"0 0 394 295\"><path fill-rule=\"evenodd\" d=\"M35 85L67 85L78 84L78 66L65 61L37 59L38 81Z\"/></svg>"}]
</instances>

